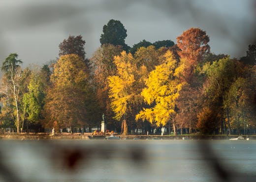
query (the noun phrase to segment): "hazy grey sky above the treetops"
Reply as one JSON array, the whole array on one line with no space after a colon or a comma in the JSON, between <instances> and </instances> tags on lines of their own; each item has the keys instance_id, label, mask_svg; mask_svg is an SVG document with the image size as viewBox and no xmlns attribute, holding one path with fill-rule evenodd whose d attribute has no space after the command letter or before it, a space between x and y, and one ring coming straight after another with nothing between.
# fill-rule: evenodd
<instances>
[{"instance_id":1,"label":"hazy grey sky above the treetops","mask_svg":"<svg viewBox=\"0 0 256 182\"><path fill-rule=\"evenodd\" d=\"M17 53L24 62L43 64L58 57L68 35L83 36L86 57L100 46L110 19L127 29L132 46L176 37L201 28L211 51L241 57L255 40L253 0L0 0L0 61Z\"/></svg>"}]
</instances>

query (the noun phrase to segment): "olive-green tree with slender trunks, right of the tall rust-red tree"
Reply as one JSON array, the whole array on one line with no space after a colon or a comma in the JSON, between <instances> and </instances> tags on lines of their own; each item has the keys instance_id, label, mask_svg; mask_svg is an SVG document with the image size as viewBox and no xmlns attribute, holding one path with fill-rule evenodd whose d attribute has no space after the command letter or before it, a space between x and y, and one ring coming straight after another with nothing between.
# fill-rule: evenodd
<instances>
[{"instance_id":1,"label":"olive-green tree with slender trunks, right of the tall rust-red tree","mask_svg":"<svg viewBox=\"0 0 256 182\"><path fill-rule=\"evenodd\" d=\"M203 66L203 70L207 76L203 85L205 95L205 106L218 107L219 115L224 118L226 116L226 124L229 134L231 132L229 121L229 107L224 105L228 98L228 91L232 83L241 74L241 64L238 61L232 60L229 57L214 61L212 64L207 63ZM218 114L216 113L215 116ZM224 123L224 120L222 120ZM221 125L223 127L223 124ZM222 128L223 130L224 128Z\"/></svg>"}]
</instances>

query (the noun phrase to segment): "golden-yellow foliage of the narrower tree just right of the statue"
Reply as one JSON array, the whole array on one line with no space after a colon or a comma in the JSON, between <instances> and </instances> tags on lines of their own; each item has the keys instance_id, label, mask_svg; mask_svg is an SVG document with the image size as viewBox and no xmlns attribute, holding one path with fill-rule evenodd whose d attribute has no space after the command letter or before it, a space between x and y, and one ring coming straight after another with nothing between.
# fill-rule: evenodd
<instances>
[{"instance_id":1,"label":"golden-yellow foliage of the narrower tree just right of the statue","mask_svg":"<svg viewBox=\"0 0 256 182\"><path fill-rule=\"evenodd\" d=\"M125 51L120 56L115 56L114 62L117 66L117 74L108 77L109 97L111 99L111 108L115 113L115 119L128 123L128 120L136 115L140 108L142 97L140 91L143 88L140 73L136 64L133 64L134 58ZM134 112L135 111L135 112Z\"/></svg>"}]
</instances>

